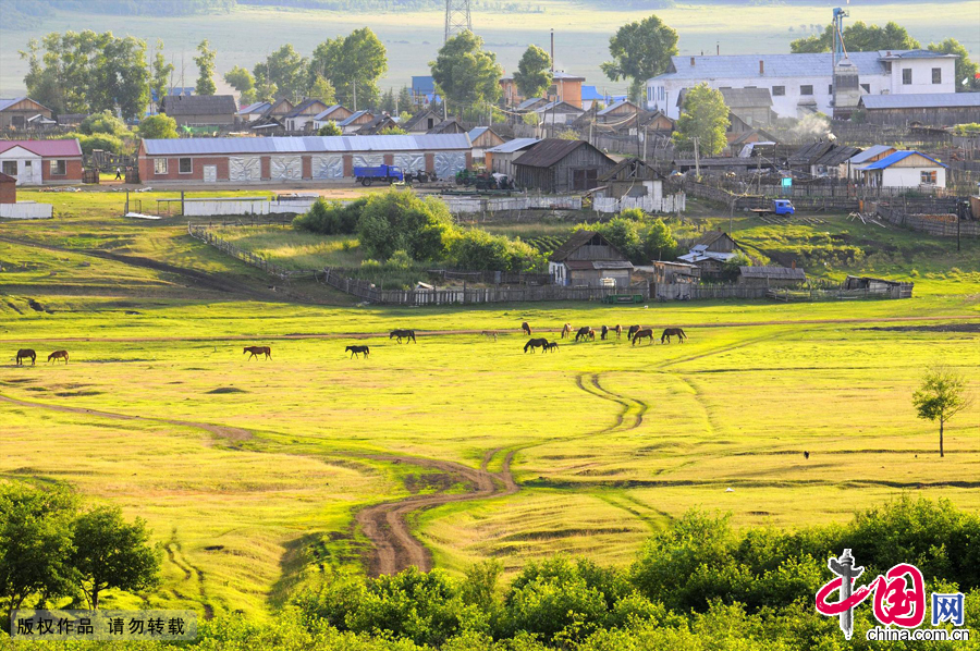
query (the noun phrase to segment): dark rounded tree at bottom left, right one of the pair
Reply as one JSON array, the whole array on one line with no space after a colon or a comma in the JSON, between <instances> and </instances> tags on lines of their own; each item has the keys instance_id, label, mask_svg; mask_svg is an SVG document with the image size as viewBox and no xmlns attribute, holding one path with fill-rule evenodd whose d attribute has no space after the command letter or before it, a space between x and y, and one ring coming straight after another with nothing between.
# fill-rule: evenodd
<instances>
[{"instance_id":1,"label":"dark rounded tree at bottom left, right one of the pair","mask_svg":"<svg viewBox=\"0 0 980 651\"><path fill-rule=\"evenodd\" d=\"M93 610L105 590L133 592L159 584L160 553L148 544L144 520L126 523L119 507L102 506L78 516L73 533L71 565Z\"/></svg>"}]
</instances>

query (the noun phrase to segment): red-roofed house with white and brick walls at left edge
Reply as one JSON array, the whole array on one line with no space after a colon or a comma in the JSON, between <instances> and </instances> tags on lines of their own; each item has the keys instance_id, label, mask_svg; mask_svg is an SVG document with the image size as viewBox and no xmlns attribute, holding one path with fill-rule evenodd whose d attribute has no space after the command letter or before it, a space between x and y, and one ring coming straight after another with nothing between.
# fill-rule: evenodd
<instances>
[{"instance_id":1,"label":"red-roofed house with white and brick walls at left edge","mask_svg":"<svg viewBox=\"0 0 980 651\"><path fill-rule=\"evenodd\" d=\"M0 172L17 185L82 183L82 147L63 140L0 140Z\"/></svg>"}]
</instances>

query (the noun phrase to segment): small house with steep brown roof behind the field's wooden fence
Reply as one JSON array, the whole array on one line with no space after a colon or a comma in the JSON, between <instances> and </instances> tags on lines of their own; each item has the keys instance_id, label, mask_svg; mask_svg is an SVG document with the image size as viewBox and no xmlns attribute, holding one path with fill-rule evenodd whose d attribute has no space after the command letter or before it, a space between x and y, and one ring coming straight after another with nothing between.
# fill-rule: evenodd
<instances>
[{"instance_id":1,"label":"small house with steep brown roof behind the field's wooden fence","mask_svg":"<svg viewBox=\"0 0 980 651\"><path fill-rule=\"evenodd\" d=\"M554 284L573 287L629 287L633 263L595 231L577 231L551 255Z\"/></svg>"}]
</instances>

